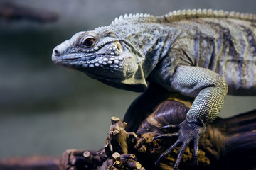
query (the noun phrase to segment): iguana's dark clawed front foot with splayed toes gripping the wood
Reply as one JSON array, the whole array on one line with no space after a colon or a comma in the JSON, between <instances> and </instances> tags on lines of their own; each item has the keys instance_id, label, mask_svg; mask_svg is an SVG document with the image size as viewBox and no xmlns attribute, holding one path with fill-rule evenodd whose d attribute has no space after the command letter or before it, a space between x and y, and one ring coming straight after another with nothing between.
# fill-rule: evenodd
<instances>
[{"instance_id":1,"label":"iguana's dark clawed front foot with splayed toes gripping the wood","mask_svg":"<svg viewBox=\"0 0 256 170\"><path fill-rule=\"evenodd\" d=\"M169 147L161 156L159 159L155 162L156 165L161 162L161 159L166 157L167 154L170 154L178 145L181 145L181 149L178 152L178 157L176 159L176 162L174 164L174 170L178 169L179 164L181 163L181 159L183 156L183 152L185 151L186 147L190 144L191 141L193 141L193 150L194 150L194 159L196 166L198 165L198 144L201 137L203 137L203 134L206 131L206 125L202 123L195 123L195 122L188 122L188 120L184 120L179 125L166 125L162 127L161 129L170 129L170 128L179 128L178 132L174 133L166 133L164 135L159 135L157 137L154 137L153 140L156 139L162 139L166 137L178 137L178 140Z\"/></svg>"}]
</instances>

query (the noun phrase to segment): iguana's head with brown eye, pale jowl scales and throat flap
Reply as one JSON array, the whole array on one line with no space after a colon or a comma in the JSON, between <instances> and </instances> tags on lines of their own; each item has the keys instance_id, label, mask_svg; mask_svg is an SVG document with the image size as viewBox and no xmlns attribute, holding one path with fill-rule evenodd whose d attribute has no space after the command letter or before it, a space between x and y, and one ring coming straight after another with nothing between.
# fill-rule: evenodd
<instances>
[{"instance_id":1,"label":"iguana's head with brown eye, pale jowl scales and throat flap","mask_svg":"<svg viewBox=\"0 0 256 170\"><path fill-rule=\"evenodd\" d=\"M142 55L110 27L76 33L53 49L55 64L85 72L120 89L144 91Z\"/></svg>"}]
</instances>

